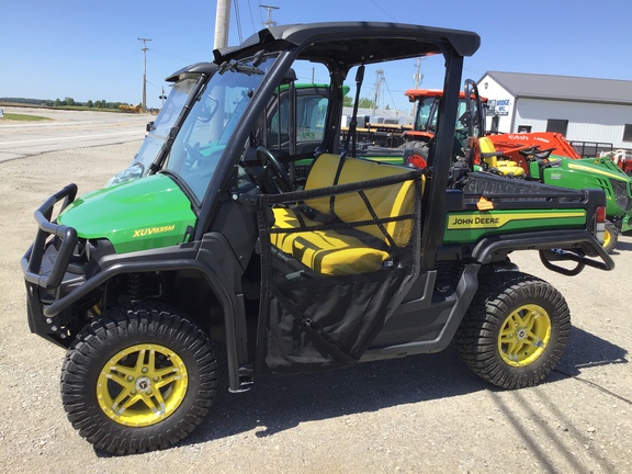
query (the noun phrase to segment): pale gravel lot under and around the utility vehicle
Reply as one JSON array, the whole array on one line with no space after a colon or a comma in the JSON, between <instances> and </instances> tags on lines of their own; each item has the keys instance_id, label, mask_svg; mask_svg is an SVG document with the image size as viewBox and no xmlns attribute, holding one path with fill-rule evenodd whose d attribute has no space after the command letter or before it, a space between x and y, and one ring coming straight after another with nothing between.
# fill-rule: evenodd
<instances>
[{"instance_id":1,"label":"pale gravel lot under and around the utility vehicle","mask_svg":"<svg viewBox=\"0 0 632 474\"><path fill-rule=\"evenodd\" d=\"M33 211L70 181L80 193L124 168L139 143L0 163L0 472L575 472L632 473L632 238L612 272L565 278L535 253L514 260L554 284L574 328L543 384L504 392L442 353L332 373L259 381L222 393L208 420L176 448L104 455L66 419L64 350L29 332L19 259L35 236Z\"/></svg>"}]
</instances>

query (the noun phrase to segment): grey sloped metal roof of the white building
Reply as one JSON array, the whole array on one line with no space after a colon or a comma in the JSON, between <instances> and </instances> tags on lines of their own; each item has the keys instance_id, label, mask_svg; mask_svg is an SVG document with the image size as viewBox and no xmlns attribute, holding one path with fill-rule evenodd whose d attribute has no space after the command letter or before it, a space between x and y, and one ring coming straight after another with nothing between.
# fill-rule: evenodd
<instances>
[{"instance_id":1,"label":"grey sloped metal roof of the white building","mask_svg":"<svg viewBox=\"0 0 632 474\"><path fill-rule=\"evenodd\" d=\"M632 104L632 81L498 71L485 76L516 98Z\"/></svg>"}]
</instances>

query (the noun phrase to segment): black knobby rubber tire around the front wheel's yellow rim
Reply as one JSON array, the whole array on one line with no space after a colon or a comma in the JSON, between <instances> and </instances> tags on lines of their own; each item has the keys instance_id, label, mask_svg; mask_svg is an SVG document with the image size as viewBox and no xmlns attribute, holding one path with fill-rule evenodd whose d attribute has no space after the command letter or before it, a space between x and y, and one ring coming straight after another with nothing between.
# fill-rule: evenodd
<instances>
[{"instance_id":1,"label":"black knobby rubber tire around the front wheel's yellow rim","mask_svg":"<svg viewBox=\"0 0 632 474\"><path fill-rule=\"evenodd\" d=\"M143 428L128 428L117 426L111 421L97 406L97 414L90 408L94 404L86 400L90 387L89 380L92 370L90 364L99 364L103 354L100 352L108 341L114 338L119 341L117 350L126 342L144 335L156 335L167 338L181 349L190 351L198 368L199 387L191 400L188 394L183 405L189 404L187 413L173 413L166 420L154 426ZM116 342L114 342L116 343ZM174 350L173 348L171 348ZM115 353L114 350L111 349ZM111 357L111 356L110 356ZM106 358L105 358L106 360ZM191 372L192 368L188 366ZM61 399L68 419L79 431L80 436L93 443L97 449L112 454L143 453L168 448L185 438L202 422L207 415L216 395L217 362L206 336L188 319L173 314L173 311L163 305L151 305L147 309L131 307L114 308L108 315L83 328L68 350L61 369ZM191 384L192 385L192 384ZM191 388L190 385L190 388ZM92 388L94 392L95 388ZM94 395L95 398L95 395ZM135 432L134 430L138 430Z\"/></svg>"}]
</instances>

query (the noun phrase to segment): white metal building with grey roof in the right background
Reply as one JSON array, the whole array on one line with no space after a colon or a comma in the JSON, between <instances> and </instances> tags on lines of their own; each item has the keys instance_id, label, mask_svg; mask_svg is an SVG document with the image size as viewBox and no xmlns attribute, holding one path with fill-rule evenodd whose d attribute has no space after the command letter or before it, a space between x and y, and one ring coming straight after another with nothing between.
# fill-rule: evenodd
<instances>
[{"instance_id":1,"label":"white metal building with grey roof in the right background","mask_svg":"<svg viewBox=\"0 0 632 474\"><path fill-rule=\"evenodd\" d=\"M632 81L488 71L478 90L489 99L488 131L560 132L569 142L632 148Z\"/></svg>"}]
</instances>

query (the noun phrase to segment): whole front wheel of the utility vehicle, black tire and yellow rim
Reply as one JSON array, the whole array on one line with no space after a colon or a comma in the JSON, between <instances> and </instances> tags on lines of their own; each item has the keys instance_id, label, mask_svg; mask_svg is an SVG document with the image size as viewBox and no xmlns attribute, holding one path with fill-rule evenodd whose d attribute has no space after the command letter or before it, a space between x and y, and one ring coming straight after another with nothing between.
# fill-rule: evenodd
<instances>
[{"instance_id":1,"label":"whole front wheel of the utility vehicle, black tire and yellow rim","mask_svg":"<svg viewBox=\"0 0 632 474\"><path fill-rule=\"evenodd\" d=\"M217 385L204 332L162 306L120 308L87 326L68 349L61 400L98 450L168 448L202 422Z\"/></svg>"}]
</instances>

